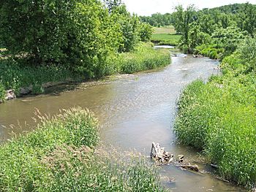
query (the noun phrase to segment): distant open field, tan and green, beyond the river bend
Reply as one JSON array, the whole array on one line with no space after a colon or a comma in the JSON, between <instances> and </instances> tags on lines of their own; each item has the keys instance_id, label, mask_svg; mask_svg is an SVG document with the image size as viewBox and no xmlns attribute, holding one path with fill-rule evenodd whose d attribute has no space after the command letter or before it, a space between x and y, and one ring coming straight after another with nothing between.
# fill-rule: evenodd
<instances>
[{"instance_id":1,"label":"distant open field, tan and green, beyond the river bend","mask_svg":"<svg viewBox=\"0 0 256 192\"><path fill-rule=\"evenodd\" d=\"M154 34L152 34L151 42L157 43L157 45L178 45L181 35L177 35L173 26L154 28Z\"/></svg>"}]
</instances>

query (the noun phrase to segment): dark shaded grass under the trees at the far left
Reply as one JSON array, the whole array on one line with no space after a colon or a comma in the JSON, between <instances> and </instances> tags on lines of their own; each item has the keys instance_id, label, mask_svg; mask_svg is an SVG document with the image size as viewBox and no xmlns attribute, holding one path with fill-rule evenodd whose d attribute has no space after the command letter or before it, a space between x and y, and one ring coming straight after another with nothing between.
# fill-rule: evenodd
<instances>
[{"instance_id":1,"label":"dark shaded grass under the trees at the far left","mask_svg":"<svg viewBox=\"0 0 256 192\"><path fill-rule=\"evenodd\" d=\"M23 66L21 61L12 58L0 60L0 82L5 90L14 89L19 94L20 88L32 87L33 93L42 93L45 82L61 82L78 75L72 74L64 66ZM1 92L1 91L0 91Z\"/></svg>"}]
</instances>

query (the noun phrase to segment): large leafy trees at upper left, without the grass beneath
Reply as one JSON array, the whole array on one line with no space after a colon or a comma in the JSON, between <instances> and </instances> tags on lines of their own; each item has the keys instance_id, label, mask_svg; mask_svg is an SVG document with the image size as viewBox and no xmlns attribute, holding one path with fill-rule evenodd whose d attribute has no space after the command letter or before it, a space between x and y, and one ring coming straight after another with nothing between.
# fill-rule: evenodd
<instances>
[{"instance_id":1,"label":"large leafy trees at upper left, without the grass beneath","mask_svg":"<svg viewBox=\"0 0 256 192\"><path fill-rule=\"evenodd\" d=\"M59 64L89 77L152 33L121 0L3 0L0 17L1 45L23 65Z\"/></svg>"}]
</instances>

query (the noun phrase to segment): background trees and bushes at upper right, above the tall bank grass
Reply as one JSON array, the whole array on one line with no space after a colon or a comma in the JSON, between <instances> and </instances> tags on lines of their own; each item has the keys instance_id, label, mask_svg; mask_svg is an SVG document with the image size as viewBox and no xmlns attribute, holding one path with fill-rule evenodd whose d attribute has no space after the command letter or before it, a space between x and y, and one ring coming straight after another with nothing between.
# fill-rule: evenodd
<instances>
[{"instance_id":1,"label":"background trees and bushes at upper right, above the tall bank grass","mask_svg":"<svg viewBox=\"0 0 256 192\"><path fill-rule=\"evenodd\" d=\"M198 50L198 45L205 45L209 50L224 49L220 51L222 55L217 54L217 50L211 54L212 58L223 58L236 50L241 39L254 37L256 7L247 3L196 11L193 6L187 9L178 6L173 20L176 31L182 34L180 47L184 52L192 53Z\"/></svg>"}]
</instances>

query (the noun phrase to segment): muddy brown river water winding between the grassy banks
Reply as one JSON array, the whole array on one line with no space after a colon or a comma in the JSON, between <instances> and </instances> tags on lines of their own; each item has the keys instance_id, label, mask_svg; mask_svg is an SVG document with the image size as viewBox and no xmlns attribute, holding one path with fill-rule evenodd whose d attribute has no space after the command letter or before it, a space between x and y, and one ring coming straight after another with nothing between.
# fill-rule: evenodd
<instances>
[{"instance_id":1,"label":"muddy brown river water winding between the grassy banks","mask_svg":"<svg viewBox=\"0 0 256 192\"><path fill-rule=\"evenodd\" d=\"M100 123L100 136L105 144L135 148L148 154L151 142L159 142L174 155L183 154L204 172L211 168L200 163L200 155L189 147L176 144L173 121L176 117L176 101L182 88L197 78L207 80L216 74L218 62L209 58L193 58L183 55L172 58L172 64L150 72L126 74L115 80L79 85L64 85L71 91L7 101L0 105L0 134L10 138L10 132L20 133L35 126L35 108L51 115L60 108L80 106L92 110ZM24 123L26 122L26 126ZM10 124L17 125L14 129ZM230 183L218 180L212 174L183 171L176 166L162 166L162 183L170 191L244 191ZM170 182L171 180L171 182Z\"/></svg>"}]
</instances>

